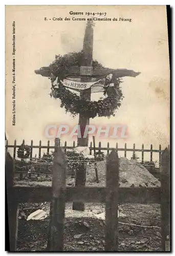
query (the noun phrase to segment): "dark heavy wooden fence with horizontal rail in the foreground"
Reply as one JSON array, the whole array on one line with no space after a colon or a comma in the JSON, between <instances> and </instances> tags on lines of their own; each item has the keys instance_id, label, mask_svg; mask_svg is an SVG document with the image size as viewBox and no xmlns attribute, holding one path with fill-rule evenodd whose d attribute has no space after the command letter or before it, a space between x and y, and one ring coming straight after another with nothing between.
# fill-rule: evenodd
<instances>
[{"instance_id":1,"label":"dark heavy wooden fence with horizontal rail in the foreground","mask_svg":"<svg viewBox=\"0 0 175 256\"><path fill-rule=\"evenodd\" d=\"M17 146L16 146L17 147ZM63 250L63 221L65 202L101 202L106 204L105 251L118 251L118 203L158 203L162 211L162 251L170 250L170 163L169 150L161 155L161 187L119 187L119 158L116 150L108 157L106 187L66 187L64 153L55 141L52 187L13 186L13 160L6 152L6 183L10 227L10 251L16 250L17 214L19 203L52 202L50 223L50 251Z\"/></svg>"}]
</instances>

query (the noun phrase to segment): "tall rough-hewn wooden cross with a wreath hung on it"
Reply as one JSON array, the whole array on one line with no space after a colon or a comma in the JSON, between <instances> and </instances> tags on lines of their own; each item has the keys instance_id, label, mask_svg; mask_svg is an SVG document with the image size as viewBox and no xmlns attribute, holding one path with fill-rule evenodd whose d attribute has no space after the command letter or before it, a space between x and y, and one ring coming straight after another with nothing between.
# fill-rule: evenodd
<instances>
[{"instance_id":1,"label":"tall rough-hewn wooden cross with a wreath hung on it","mask_svg":"<svg viewBox=\"0 0 175 256\"><path fill-rule=\"evenodd\" d=\"M71 67L67 77L81 77L82 82L90 82L92 78L100 78L102 76L106 76L108 74L113 74L113 77L119 78L124 76L136 77L140 73L134 72L133 70L127 69L108 69L108 68L94 68L92 67L93 62L93 23L88 22L85 28L85 35L83 41L83 58L81 67ZM50 67L42 67L39 70L35 70L36 74L40 74L42 76L51 77L52 70ZM91 88L83 90L80 92L80 97L85 98L86 100L91 100ZM84 117L81 113L79 114L79 125L81 131L81 137L78 138L77 145L78 146L88 146L88 136L83 138L85 126L90 122L89 118ZM75 186L85 186L85 172L86 167L82 165L80 172L76 174ZM82 202L74 202L73 203L74 210L84 210L84 203Z\"/></svg>"}]
</instances>

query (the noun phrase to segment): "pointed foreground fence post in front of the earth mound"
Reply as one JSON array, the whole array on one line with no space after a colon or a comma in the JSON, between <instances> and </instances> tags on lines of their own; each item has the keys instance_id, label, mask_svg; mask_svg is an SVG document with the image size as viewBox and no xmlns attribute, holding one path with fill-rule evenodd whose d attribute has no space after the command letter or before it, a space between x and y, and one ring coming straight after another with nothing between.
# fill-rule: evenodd
<instances>
[{"instance_id":1,"label":"pointed foreground fence post in front of the earth mound","mask_svg":"<svg viewBox=\"0 0 175 256\"><path fill-rule=\"evenodd\" d=\"M119 158L114 150L107 161L106 187L105 251L118 251Z\"/></svg>"}]
</instances>

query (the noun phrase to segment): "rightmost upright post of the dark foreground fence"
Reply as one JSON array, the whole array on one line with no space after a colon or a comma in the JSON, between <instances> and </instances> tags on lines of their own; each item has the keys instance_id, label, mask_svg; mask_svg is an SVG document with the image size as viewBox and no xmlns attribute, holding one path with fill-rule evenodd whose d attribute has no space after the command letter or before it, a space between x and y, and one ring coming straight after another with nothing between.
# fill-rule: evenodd
<instances>
[{"instance_id":1,"label":"rightmost upright post of the dark foreground fence","mask_svg":"<svg viewBox=\"0 0 175 256\"><path fill-rule=\"evenodd\" d=\"M166 147L161 160L162 251L170 251L170 154Z\"/></svg>"}]
</instances>

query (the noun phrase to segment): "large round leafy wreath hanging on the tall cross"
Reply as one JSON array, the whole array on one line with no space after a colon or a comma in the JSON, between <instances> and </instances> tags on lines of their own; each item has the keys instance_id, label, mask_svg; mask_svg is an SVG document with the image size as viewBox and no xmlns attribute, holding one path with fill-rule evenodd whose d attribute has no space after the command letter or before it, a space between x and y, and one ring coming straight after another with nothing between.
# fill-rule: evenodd
<instances>
[{"instance_id":1,"label":"large round leafy wreath hanging on the tall cross","mask_svg":"<svg viewBox=\"0 0 175 256\"><path fill-rule=\"evenodd\" d=\"M76 93L71 92L63 86L62 80L67 77L67 71L70 66L80 66L79 59L82 58L82 52L65 54L64 56L57 55L56 60L50 65L52 70L51 82L52 88L50 96L61 100L61 108L65 108L66 112L70 112L73 117L77 114L82 114L86 118L94 118L98 116L115 116L115 111L120 107L121 100L124 98L120 83L121 79L107 75L105 78L104 95L105 98L100 98L98 101L91 101L81 98ZM78 63L79 62L79 63ZM93 67L102 67L96 60L93 61ZM53 81L58 77L58 88L55 88Z\"/></svg>"}]
</instances>

